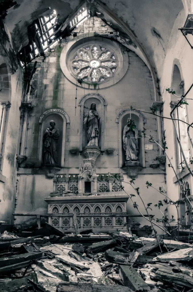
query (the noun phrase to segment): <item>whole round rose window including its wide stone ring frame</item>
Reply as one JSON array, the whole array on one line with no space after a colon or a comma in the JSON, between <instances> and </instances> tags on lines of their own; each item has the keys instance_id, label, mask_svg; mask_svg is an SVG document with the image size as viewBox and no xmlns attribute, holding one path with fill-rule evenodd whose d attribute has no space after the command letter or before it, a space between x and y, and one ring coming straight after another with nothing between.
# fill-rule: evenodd
<instances>
[{"instance_id":1,"label":"whole round rose window including its wide stone ring frame","mask_svg":"<svg viewBox=\"0 0 193 292\"><path fill-rule=\"evenodd\" d=\"M123 65L124 64L124 65ZM65 77L84 88L105 88L116 84L127 72L128 52L107 38L74 38L65 44L60 66Z\"/></svg>"}]
</instances>

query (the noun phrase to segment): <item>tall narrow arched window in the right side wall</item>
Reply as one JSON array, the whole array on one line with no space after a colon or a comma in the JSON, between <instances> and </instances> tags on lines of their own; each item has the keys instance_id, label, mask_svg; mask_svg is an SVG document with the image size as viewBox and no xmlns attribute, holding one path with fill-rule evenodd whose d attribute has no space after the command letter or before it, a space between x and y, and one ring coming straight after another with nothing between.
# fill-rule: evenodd
<instances>
[{"instance_id":1,"label":"tall narrow arched window in the right side wall","mask_svg":"<svg viewBox=\"0 0 193 292\"><path fill-rule=\"evenodd\" d=\"M182 81L180 70L177 65L174 65L173 67L171 88L173 91L176 92L175 94L179 97L181 97L184 94L184 81ZM171 95L171 98L172 98L171 107L174 107L178 103L180 98L177 98L175 95ZM187 122L186 105L181 105L180 107L177 107L173 112L173 117L175 119L180 119ZM189 141L188 141L188 136L187 136L187 124L181 121L175 121L175 123L176 123L178 137L180 139L180 143L182 145L185 158L187 160L187 163L189 163L190 149L189 149ZM177 153L176 164L178 168L181 168L182 166L184 166L183 165L184 159L180 151L180 147L178 145L177 137L175 137L175 147L176 147L176 153Z\"/></svg>"}]
</instances>

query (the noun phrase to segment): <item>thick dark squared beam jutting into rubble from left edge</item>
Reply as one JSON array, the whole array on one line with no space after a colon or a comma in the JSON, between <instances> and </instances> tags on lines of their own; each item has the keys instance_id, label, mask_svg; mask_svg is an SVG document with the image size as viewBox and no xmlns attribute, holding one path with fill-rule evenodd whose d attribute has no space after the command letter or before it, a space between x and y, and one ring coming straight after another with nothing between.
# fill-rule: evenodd
<instances>
[{"instance_id":1,"label":"thick dark squared beam jutting into rubble from left edge","mask_svg":"<svg viewBox=\"0 0 193 292\"><path fill-rule=\"evenodd\" d=\"M43 252L30 252L30 253L23 253L20 255L9 256L6 258L0 259L0 267L5 267L8 265L14 265L16 263L24 262L25 260L35 260L41 258Z\"/></svg>"}]
</instances>

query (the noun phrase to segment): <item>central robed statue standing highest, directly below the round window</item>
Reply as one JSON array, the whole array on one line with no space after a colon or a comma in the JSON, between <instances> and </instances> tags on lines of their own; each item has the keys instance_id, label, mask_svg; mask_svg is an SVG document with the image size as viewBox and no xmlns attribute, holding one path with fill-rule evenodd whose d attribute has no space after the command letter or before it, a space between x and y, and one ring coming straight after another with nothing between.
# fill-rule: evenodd
<instances>
[{"instance_id":1,"label":"central robed statue standing highest, directly below the round window","mask_svg":"<svg viewBox=\"0 0 193 292\"><path fill-rule=\"evenodd\" d=\"M100 116L94 102L91 103L83 124L87 126L87 146L98 146Z\"/></svg>"}]
</instances>

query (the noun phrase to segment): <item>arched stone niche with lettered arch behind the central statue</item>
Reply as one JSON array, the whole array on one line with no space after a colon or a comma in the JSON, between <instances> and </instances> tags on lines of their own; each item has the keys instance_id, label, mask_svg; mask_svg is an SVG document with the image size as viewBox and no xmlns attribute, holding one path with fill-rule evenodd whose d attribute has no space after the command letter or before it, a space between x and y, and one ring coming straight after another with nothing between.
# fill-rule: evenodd
<instances>
[{"instance_id":1,"label":"arched stone niche with lettered arch behind the central statue","mask_svg":"<svg viewBox=\"0 0 193 292\"><path fill-rule=\"evenodd\" d=\"M86 125L83 124L84 117L87 111L90 109L92 103L96 104L96 109L100 115L100 127L99 127L99 138L98 138L98 146L101 152L104 152L104 128L105 128L105 111L107 109L107 101L106 99L98 94L98 93L88 93L84 95L78 102L78 106L80 109L80 140L79 140L79 151L82 150L87 145L87 131Z\"/></svg>"}]
</instances>

